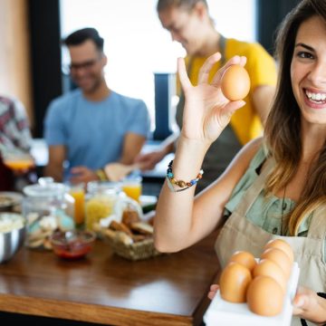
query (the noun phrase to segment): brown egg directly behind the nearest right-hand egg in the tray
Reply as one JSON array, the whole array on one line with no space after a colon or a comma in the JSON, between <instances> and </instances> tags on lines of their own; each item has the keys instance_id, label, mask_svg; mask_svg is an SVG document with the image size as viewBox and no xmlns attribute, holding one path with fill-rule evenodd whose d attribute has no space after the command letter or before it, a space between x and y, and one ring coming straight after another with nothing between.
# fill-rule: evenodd
<instances>
[{"instance_id":1,"label":"brown egg directly behind the nearest right-hand egg in the tray","mask_svg":"<svg viewBox=\"0 0 326 326\"><path fill-rule=\"evenodd\" d=\"M270 259L260 260L259 263L254 267L253 277L262 275L272 277L277 283L281 285L283 292L286 292L286 277L278 264L274 263Z\"/></svg>"}]
</instances>

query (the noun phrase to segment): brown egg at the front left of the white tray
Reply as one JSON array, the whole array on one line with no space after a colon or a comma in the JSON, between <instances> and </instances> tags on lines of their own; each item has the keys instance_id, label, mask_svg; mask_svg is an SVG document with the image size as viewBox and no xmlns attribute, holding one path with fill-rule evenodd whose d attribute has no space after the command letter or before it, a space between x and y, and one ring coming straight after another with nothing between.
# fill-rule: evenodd
<instances>
[{"instance_id":1,"label":"brown egg at the front left of the white tray","mask_svg":"<svg viewBox=\"0 0 326 326\"><path fill-rule=\"evenodd\" d=\"M251 273L244 265L235 262L227 264L219 279L221 297L228 302L245 302L251 281Z\"/></svg>"}]
</instances>

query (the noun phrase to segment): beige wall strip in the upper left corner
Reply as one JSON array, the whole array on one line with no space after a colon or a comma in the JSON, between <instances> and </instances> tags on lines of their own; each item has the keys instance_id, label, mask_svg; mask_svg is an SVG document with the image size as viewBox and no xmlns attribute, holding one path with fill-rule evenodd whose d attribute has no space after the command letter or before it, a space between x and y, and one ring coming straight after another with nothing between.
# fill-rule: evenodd
<instances>
[{"instance_id":1,"label":"beige wall strip in the upper left corner","mask_svg":"<svg viewBox=\"0 0 326 326\"><path fill-rule=\"evenodd\" d=\"M24 103L34 124L26 0L0 0L0 93Z\"/></svg>"}]
</instances>

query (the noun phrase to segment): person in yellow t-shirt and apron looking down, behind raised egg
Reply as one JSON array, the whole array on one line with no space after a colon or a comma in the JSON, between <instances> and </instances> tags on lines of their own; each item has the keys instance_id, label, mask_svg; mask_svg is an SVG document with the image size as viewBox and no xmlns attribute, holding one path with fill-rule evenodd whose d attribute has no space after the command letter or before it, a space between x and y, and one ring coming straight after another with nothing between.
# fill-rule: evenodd
<instances>
[{"instance_id":1,"label":"person in yellow t-shirt and apron looking down, behind raised egg","mask_svg":"<svg viewBox=\"0 0 326 326\"><path fill-rule=\"evenodd\" d=\"M190 81L197 85L199 69L206 58L217 51L222 53L210 78L223 62L234 55L245 55L245 69L249 73L251 89L245 98L245 106L232 117L231 124L209 149L203 168L205 175L197 191L208 186L225 170L231 159L245 143L262 134L262 122L266 119L273 98L276 83L276 65L273 57L259 43L247 43L225 39L215 29L209 16L206 0L158 0L158 16L174 41L182 44L187 51L186 65ZM184 96L179 93L177 124L182 125ZM175 149L176 136L164 141L161 149L140 155L137 161L143 169L154 168L168 153Z\"/></svg>"}]
</instances>

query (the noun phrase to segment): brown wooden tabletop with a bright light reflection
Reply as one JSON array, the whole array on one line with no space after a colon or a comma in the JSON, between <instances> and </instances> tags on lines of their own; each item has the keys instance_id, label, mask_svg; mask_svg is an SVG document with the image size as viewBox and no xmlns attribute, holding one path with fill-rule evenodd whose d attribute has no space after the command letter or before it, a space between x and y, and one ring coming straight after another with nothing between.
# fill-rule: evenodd
<instances>
[{"instance_id":1,"label":"brown wooden tabletop with a bright light reflection","mask_svg":"<svg viewBox=\"0 0 326 326\"><path fill-rule=\"evenodd\" d=\"M219 270L215 239L138 262L112 254L101 240L74 262L23 248L0 264L0 312L108 325L199 325Z\"/></svg>"}]
</instances>

